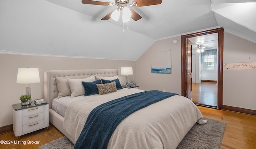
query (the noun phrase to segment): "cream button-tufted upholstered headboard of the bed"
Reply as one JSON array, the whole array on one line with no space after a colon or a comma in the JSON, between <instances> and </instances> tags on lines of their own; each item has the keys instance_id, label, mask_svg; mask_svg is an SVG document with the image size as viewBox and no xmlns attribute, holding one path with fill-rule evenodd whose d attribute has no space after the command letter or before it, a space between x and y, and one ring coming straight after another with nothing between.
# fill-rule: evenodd
<instances>
[{"instance_id":1,"label":"cream button-tufted upholstered headboard of the bed","mask_svg":"<svg viewBox=\"0 0 256 149\"><path fill-rule=\"evenodd\" d=\"M44 99L52 108L52 99L58 96L55 77L82 79L90 75L104 77L119 76L119 69L88 69L88 70L48 70L44 71Z\"/></svg>"}]
</instances>

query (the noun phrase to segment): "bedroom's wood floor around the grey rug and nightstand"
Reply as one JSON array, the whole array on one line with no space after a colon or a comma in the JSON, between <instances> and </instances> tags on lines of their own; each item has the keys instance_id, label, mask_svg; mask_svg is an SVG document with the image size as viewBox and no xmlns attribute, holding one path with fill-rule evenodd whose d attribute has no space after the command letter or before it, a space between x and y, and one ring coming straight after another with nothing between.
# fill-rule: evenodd
<instances>
[{"instance_id":1,"label":"bedroom's wood floor around the grey rug and nightstand","mask_svg":"<svg viewBox=\"0 0 256 149\"><path fill-rule=\"evenodd\" d=\"M204 117L226 122L226 129L220 149L256 149L256 116L198 106ZM13 131L0 135L0 140L13 141L0 144L0 149L38 149L41 145L62 137L54 126L22 135L20 139ZM40 141L39 144L14 144L14 141Z\"/></svg>"}]
</instances>

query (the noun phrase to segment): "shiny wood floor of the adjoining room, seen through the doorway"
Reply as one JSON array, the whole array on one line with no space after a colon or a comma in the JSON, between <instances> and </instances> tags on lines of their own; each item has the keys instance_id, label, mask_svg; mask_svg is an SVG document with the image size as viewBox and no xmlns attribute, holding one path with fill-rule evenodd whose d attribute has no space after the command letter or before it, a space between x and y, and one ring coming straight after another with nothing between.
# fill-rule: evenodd
<instances>
[{"instance_id":1,"label":"shiny wood floor of the adjoining room, seen through the doorway","mask_svg":"<svg viewBox=\"0 0 256 149\"><path fill-rule=\"evenodd\" d=\"M195 104L217 107L217 94L216 82L192 83L192 101Z\"/></svg>"}]
</instances>

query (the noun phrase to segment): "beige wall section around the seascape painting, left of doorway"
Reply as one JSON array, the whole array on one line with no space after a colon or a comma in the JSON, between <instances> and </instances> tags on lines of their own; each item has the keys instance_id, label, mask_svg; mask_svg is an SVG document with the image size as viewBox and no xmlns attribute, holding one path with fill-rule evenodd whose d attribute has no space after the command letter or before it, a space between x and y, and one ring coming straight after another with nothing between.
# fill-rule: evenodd
<instances>
[{"instance_id":1,"label":"beige wall section around the seascape painting, left of doorway","mask_svg":"<svg viewBox=\"0 0 256 149\"><path fill-rule=\"evenodd\" d=\"M173 44L173 40L178 42ZM181 94L181 43L180 36L156 41L136 61L136 82L143 90L160 90ZM172 74L152 74L151 66L158 61L165 61L156 58L159 53L171 50Z\"/></svg>"}]
</instances>

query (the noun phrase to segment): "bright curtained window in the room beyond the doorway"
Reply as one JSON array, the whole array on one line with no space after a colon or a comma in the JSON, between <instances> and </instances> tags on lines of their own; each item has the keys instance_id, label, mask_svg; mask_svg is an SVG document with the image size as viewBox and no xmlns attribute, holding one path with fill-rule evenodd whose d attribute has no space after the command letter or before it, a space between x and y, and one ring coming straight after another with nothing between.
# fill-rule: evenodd
<instances>
[{"instance_id":1,"label":"bright curtained window in the room beyond the doorway","mask_svg":"<svg viewBox=\"0 0 256 149\"><path fill-rule=\"evenodd\" d=\"M205 50L201 55L201 64L204 65L204 70L215 70L217 64L217 50Z\"/></svg>"}]
</instances>

